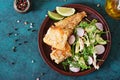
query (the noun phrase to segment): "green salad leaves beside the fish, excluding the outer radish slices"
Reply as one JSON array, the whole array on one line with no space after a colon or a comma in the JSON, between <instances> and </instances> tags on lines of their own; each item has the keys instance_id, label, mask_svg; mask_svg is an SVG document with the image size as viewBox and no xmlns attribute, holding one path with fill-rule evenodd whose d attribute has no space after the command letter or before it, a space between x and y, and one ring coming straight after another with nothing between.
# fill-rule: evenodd
<instances>
[{"instance_id":1,"label":"green salad leaves beside the fish, excluding the outer radish slices","mask_svg":"<svg viewBox=\"0 0 120 80\"><path fill-rule=\"evenodd\" d=\"M107 40L102 38L102 34L106 34L106 32L101 31L96 27L95 24L97 22L98 21L96 19L93 19L92 21L81 21L80 24L76 26L73 32L76 40L71 45L72 56L62 62L64 68L72 65L73 67L78 67L81 71L83 71L91 68L91 65L88 65L89 56L94 57L95 61L97 61L97 57L95 57L95 46L99 44L107 44ZM85 33L82 37L77 35L76 29L78 27L85 30Z\"/></svg>"}]
</instances>

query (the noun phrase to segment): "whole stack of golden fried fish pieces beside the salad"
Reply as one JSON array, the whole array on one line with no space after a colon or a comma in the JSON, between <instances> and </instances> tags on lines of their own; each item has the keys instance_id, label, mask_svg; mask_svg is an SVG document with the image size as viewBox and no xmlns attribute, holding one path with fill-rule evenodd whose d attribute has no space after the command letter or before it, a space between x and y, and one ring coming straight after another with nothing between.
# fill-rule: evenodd
<instances>
[{"instance_id":1,"label":"whole stack of golden fried fish pieces beside the salad","mask_svg":"<svg viewBox=\"0 0 120 80\"><path fill-rule=\"evenodd\" d=\"M67 43L67 39L73 33L74 28L85 16L86 13L84 11L76 13L54 23L55 26L52 25L48 29L43 41L52 47L50 57L55 61L55 63L59 64L66 58L72 56L71 47Z\"/></svg>"}]
</instances>

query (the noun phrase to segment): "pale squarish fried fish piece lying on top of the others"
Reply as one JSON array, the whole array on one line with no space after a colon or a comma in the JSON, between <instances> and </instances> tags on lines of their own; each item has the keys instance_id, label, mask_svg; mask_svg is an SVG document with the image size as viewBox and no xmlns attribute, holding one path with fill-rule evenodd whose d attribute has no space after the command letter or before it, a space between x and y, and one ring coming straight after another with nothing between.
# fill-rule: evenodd
<instances>
[{"instance_id":1,"label":"pale squarish fried fish piece lying on top of the others","mask_svg":"<svg viewBox=\"0 0 120 80\"><path fill-rule=\"evenodd\" d=\"M53 25L48 29L43 41L53 48L65 49L68 36L72 33L71 29L62 29Z\"/></svg>"}]
</instances>

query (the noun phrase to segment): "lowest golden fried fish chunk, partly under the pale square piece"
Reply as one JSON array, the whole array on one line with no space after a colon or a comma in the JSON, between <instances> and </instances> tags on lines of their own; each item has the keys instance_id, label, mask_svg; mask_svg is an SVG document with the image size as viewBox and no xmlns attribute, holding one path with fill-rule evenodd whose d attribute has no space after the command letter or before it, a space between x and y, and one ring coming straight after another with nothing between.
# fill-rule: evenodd
<instances>
[{"instance_id":1,"label":"lowest golden fried fish chunk, partly under the pale square piece","mask_svg":"<svg viewBox=\"0 0 120 80\"><path fill-rule=\"evenodd\" d=\"M55 63L59 64L60 62L64 61L66 58L72 56L71 54L71 47L67 43L65 46L65 50L54 49L50 53L50 57Z\"/></svg>"}]
</instances>

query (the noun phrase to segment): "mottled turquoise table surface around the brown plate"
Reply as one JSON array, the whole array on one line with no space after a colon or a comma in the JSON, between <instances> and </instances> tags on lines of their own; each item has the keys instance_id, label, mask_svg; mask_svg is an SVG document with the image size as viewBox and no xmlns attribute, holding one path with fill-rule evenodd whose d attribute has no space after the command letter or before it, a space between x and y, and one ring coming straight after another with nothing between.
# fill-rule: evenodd
<instances>
[{"instance_id":1,"label":"mottled turquoise table surface around the brown plate","mask_svg":"<svg viewBox=\"0 0 120 80\"><path fill-rule=\"evenodd\" d=\"M105 0L31 0L31 10L25 14L14 10L13 1L0 0L0 80L120 80L120 21L106 14ZM108 58L99 70L85 76L57 73L44 62L38 49L38 31L47 11L70 3L97 10L111 31ZM33 28L29 28L30 23Z\"/></svg>"}]
</instances>

